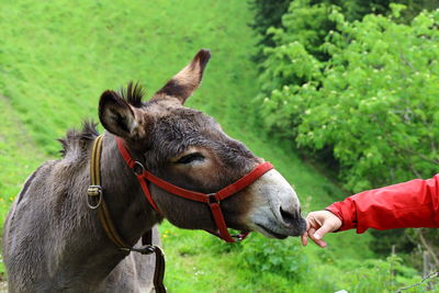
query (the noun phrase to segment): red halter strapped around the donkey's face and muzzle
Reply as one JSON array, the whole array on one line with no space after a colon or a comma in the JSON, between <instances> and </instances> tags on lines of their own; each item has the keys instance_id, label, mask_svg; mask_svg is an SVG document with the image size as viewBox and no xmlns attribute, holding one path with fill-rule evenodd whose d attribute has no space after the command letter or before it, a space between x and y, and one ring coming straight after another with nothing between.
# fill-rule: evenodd
<instances>
[{"instance_id":1,"label":"red halter strapped around the donkey's face and muzzle","mask_svg":"<svg viewBox=\"0 0 439 293\"><path fill-rule=\"evenodd\" d=\"M153 200L153 196L149 192L147 181L154 183L155 185L159 187L160 189L166 190L175 195L209 204L209 206L211 207L212 215L215 221L216 227L218 228L218 232L212 233L213 235L222 238L223 240L225 240L227 243L236 241L232 237L236 237L238 240L243 240L244 238L247 237L248 233L241 233L239 235L230 236L230 234L227 230L226 222L224 221L223 212L221 211L219 202L224 199L232 196L233 194L237 193L238 191L243 190L244 188L250 185L252 182L258 180L262 174L264 174L269 170L273 169L273 166L270 162L268 162L268 161L262 162L262 164L258 165L251 172L249 172L241 179L235 181L234 183L223 188L218 192L206 194L206 193L201 193L201 192L191 191L191 190L176 187L176 185L154 176L153 173L148 172L140 162L133 160L128 150L125 148L125 145L124 145L122 138L117 137L116 143L117 143L119 151L121 153L122 157L124 158L124 160L126 161L128 167L132 168L134 173L136 174L137 180L140 183L142 190L144 191L146 199L148 200L150 205L154 207L154 210L156 210L158 213L160 213L160 211L158 210L156 203Z\"/></svg>"}]
</instances>

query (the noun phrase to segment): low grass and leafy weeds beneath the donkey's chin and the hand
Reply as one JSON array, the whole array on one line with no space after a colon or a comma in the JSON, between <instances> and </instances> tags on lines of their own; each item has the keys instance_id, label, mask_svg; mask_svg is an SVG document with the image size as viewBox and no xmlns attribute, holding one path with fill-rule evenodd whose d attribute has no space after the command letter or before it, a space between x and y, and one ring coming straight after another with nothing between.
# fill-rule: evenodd
<instances>
[{"instance_id":1,"label":"low grass and leafy weeds beneath the donkey's chin and the hand","mask_svg":"<svg viewBox=\"0 0 439 293\"><path fill-rule=\"evenodd\" d=\"M330 239L330 244L341 246L337 251L335 246L303 248L295 239L280 241L255 234L244 243L224 245L200 232L179 237L181 230L168 223L161 229L167 235L165 249L170 259L167 274L173 275L167 284L178 292L395 292L421 280L398 256L363 259L361 239L353 234L351 240L360 246L351 252L346 246L348 238L338 239L339 243ZM191 280L192 285L188 286L191 278L196 281ZM211 289L207 282L216 282L217 286ZM424 289L425 284L408 292Z\"/></svg>"}]
</instances>

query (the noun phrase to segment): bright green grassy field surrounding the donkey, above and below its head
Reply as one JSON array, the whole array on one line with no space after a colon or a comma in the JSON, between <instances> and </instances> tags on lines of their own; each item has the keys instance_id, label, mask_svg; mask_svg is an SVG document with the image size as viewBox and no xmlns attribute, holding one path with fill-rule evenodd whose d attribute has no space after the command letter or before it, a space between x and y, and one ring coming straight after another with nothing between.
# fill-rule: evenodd
<instances>
[{"instance_id":1,"label":"bright green grassy field surrounding the donkey, above and below its head","mask_svg":"<svg viewBox=\"0 0 439 293\"><path fill-rule=\"evenodd\" d=\"M188 105L214 116L230 136L273 162L304 211L346 196L258 124L251 19L246 1L233 0L3 1L1 222L25 178L43 161L59 158L56 139L82 119L98 121L103 90L138 80L151 94L200 48L210 48L212 59ZM297 238L259 235L228 245L169 223L161 233L170 292L391 292L419 280L405 267L396 275L389 267L399 263L395 258L375 259L369 234L330 235L329 247L319 249L302 248Z\"/></svg>"}]
</instances>

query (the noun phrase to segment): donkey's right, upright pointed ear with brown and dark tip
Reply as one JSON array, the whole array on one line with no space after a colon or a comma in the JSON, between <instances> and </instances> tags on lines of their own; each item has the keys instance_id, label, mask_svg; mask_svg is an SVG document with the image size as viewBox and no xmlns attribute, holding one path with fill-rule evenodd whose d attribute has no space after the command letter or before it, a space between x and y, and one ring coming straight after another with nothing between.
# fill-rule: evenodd
<instances>
[{"instance_id":1,"label":"donkey's right, upright pointed ear with brown and dark tip","mask_svg":"<svg viewBox=\"0 0 439 293\"><path fill-rule=\"evenodd\" d=\"M181 69L165 87L156 92L151 100L173 97L183 104L200 86L204 68L210 58L211 52L209 49L201 49L187 67Z\"/></svg>"}]
</instances>

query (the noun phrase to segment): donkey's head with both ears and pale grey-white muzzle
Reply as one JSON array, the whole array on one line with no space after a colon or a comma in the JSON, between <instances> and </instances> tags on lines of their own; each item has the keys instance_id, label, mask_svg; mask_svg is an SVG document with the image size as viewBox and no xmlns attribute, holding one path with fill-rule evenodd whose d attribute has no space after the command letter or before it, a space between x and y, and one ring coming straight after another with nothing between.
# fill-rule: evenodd
<instances>
[{"instance_id":1,"label":"donkey's head with both ears and pale grey-white muzzle","mask_svg":"<svg viewBox=\"0 0 439 293\"><path fill-rule=\"evenodd\" d=\"M122 93L105 91L99 116L110 133L122 137L133 157L157 177L184 189L212 193L250 172L263 160L228 137L200 111L183 106L199 87L210 52L193 60L148 101L130 84ZM153 199L162 215L182 228L214 230L206 204L176 196L155 185ZM285 238L303 233L299 199L286 180L270 170L248 188L221 203L230 228Z\"/></svg>"}]
</instances>

